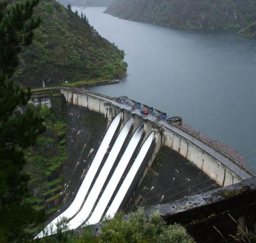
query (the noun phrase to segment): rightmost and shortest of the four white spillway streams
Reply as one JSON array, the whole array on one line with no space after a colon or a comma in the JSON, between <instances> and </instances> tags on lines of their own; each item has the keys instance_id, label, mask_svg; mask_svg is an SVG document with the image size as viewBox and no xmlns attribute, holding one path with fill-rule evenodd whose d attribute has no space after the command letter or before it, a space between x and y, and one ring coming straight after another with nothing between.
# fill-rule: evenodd
<instances>
[{"instance_id":1,"label":"rightmost and shortest of the four white spillway streams","mask_svg":"<svg viewBox=\"0 0 256 243\"><path fill-rule=\"evenodd\" d=\"M151 132L151 134L148 136L147 140L142 145L139 154L137 155L135 161L132 164L131 169L129 170L127 176L124 179L124 182L122 183L118 192L116 193L116 196L115 196L113 202L111 203L110 207L108 208L106 216L114 217L116 211L120 207L120 204L122 203L126 192L128 191L130 185L132 184L132 181L133 181L138 169L140 168L140 165L141 165L143 159L145 158L145 155L148 152L148 149L152 143L153 137L154 137L154 132Z\"/></svg>"}]
</instances>

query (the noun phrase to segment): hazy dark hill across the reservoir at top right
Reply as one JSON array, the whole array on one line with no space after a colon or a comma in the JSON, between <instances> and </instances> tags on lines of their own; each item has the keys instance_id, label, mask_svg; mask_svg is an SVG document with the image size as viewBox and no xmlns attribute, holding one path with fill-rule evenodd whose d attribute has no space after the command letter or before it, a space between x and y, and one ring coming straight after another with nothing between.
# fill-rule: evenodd
<instances>
[{"instance_id":1,"label":"hazy dark hill across the reservoir at top right","mask_svg":"<svg viewBox=\"0 0 256 243\"><path fill-rule=\"evenodd\" d=\"M175 28L246 27L256 20L256 0L115 0L105 13Z\"/></svg>"}]
</instances>

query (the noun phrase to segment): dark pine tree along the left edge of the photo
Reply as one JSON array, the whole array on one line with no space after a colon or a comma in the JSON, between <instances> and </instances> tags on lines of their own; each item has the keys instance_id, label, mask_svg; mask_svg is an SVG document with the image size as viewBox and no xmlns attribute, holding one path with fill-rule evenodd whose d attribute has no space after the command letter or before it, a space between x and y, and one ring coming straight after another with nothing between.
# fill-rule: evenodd
<instances>
[{"instance_id":1,"label":"dark pine tree along the left edge of the photo","mask_svg":"<svg viewBox=\"0 0 256 243\"><path fill-rule=\"evenodd\" d=\"M33 144L44 131L43 119L24 106L31 96L12 81L18 66L18 53L32 41L33 30L40 18L33 18L39 0L8 4L0 2L0 239L19 241L24 225L36 219L31 205L25 203L28 176L23 148ZM18 108L22 108L19 112Z\"/></svg>"}]
</instances>

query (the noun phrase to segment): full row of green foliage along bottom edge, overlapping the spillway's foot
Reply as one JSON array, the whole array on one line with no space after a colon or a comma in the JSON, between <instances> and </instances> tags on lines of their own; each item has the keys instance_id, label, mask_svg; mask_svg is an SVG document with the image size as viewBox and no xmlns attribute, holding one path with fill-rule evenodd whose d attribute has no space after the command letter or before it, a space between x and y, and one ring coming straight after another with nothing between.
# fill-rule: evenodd
<instances>
[{"instance_id":1,"label":"full row of green foliage along bottom edge, overlapping the spillway's foot","mask_svg":"<svg viewBox=\"0 0 256 243\"><path fill-rule=\"evenodd\" d=\"M122 213L117 213L112 219L105 219L96 237L90 226L84 227L80 236L76 236L74 231L67 233L68 227L68 219L62 218L54 232L52 227L44 232L45 235L48 235L48 231L55 235L42 238L39 243L195 243L183 226L166 225L158 211L146 217L144 208L138 208L126 219Z\"/></svg>"}]
</instances>

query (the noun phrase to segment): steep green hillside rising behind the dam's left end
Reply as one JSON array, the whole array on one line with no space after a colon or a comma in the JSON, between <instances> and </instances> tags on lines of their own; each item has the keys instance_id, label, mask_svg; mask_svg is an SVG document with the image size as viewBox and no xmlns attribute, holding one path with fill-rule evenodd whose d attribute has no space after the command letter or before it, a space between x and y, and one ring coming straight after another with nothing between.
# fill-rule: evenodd
<instances>
[{"instance_id":1,"label":"steep green hillside rising behind the dam's left end","mask_svg":"<svg viewBox=\"0 0 256 243\"><path fill-rule=\"evenodd\" d=\"M42 23L19 56L15 80L45 86L71 80L112 79L125 75L124 52L102 38L84 18L54 0L41 1Z\"/></svg>"}]
</instances>

